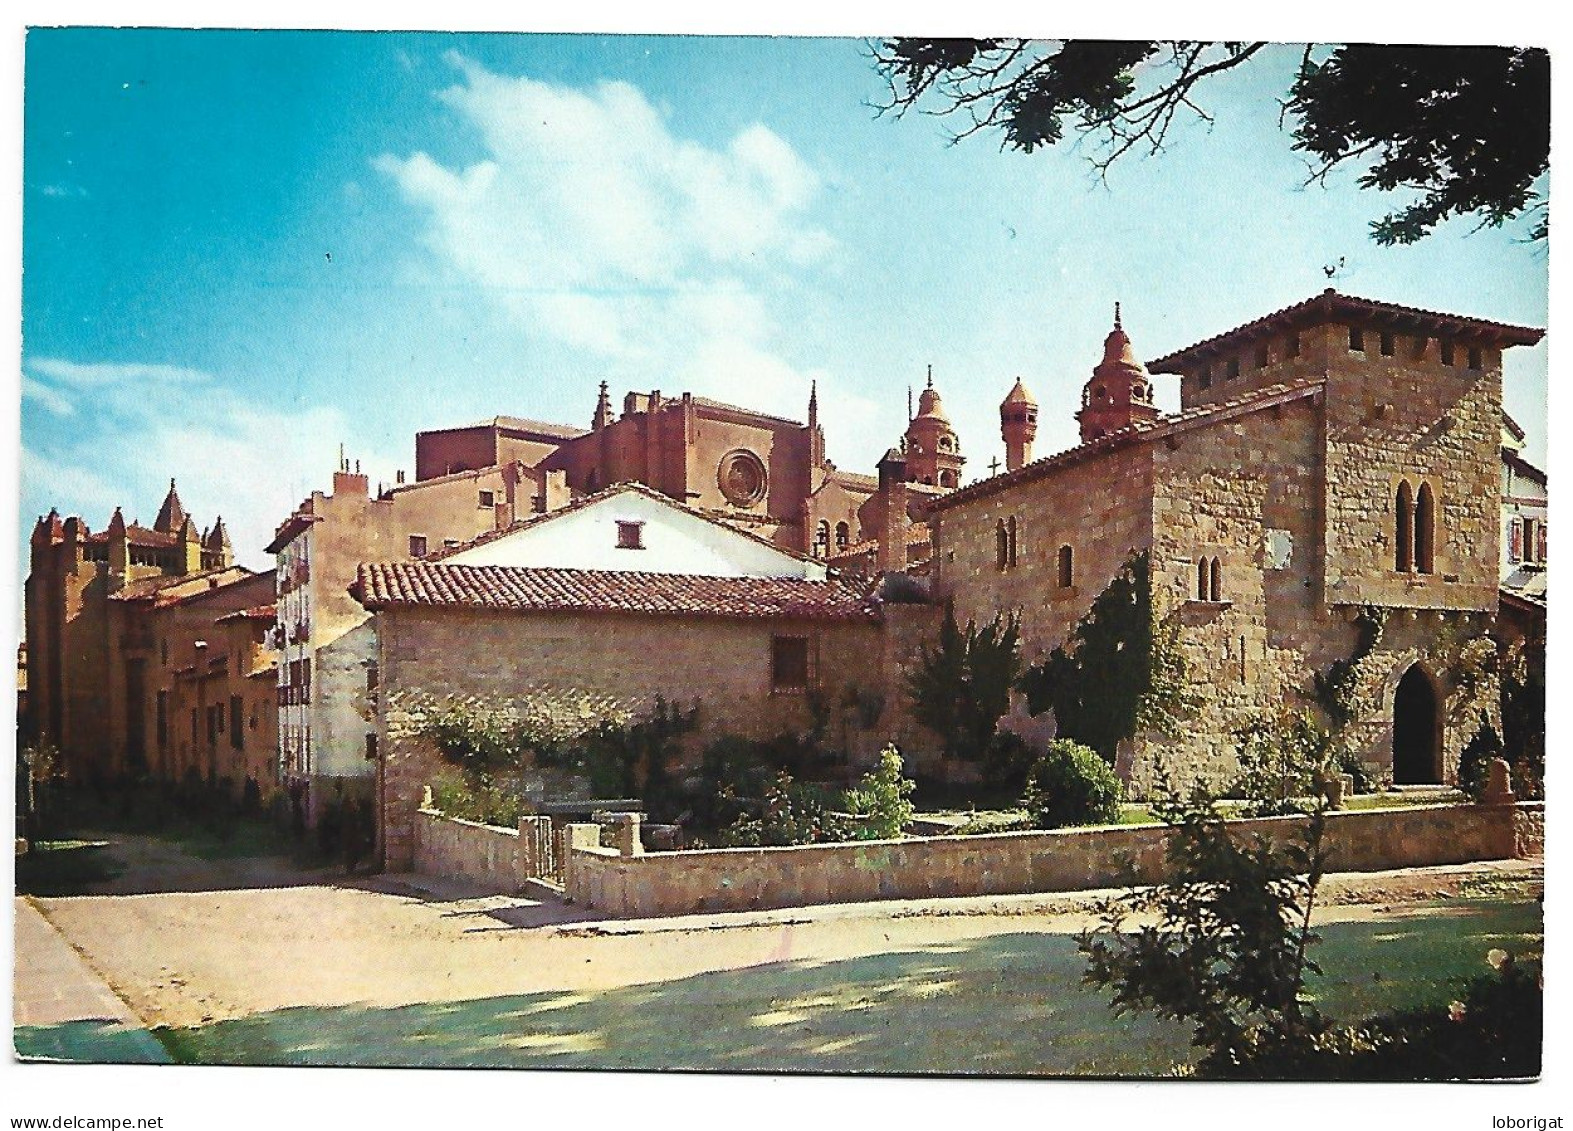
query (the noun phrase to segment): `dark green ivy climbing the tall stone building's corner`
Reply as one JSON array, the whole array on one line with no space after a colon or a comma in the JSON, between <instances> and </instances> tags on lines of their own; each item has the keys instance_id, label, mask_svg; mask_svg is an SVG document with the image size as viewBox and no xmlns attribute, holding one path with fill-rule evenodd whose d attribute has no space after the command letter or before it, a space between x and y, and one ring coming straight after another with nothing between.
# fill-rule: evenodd
<instances>
[{"instance_id":1,"label":"dark green ivy climbing the tall stone building's corner","mask_svg":"<svg viewBox=\"0 0 1573 1131\"><path fill-rule=\"evenodd\" d=\"M1029 711L1054 711L1060 738L1107 761L1139 730L1164 730L1189 714L1180 623L1153 601L1147 551L1126 558L1066 642L1027 669L1019 687Z\"/></svg>"}]
</instances>

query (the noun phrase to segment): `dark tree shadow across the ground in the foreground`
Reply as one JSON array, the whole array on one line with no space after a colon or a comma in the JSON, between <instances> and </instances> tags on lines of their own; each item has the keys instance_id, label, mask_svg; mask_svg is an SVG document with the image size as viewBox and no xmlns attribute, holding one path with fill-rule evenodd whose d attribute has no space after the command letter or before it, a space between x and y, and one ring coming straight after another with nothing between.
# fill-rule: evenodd
<instances>
[{"instance_id":1,"label":"dark tree shadow across the ground in the foreground","mask_svg":"<svg viewBox=\"0 0 1573 1131\"><path fill-rule=\"evenodd\" d=\"M1538 904L1485 900L1331 923L1313 993L1343 1019L1447 1002L1486 950L1537 953L1540 931ZM286 1008L156 1035L181 1062L263 1065L1155 1076L1188 1059L1183 1026L1114 1016L1082 969L1073 938L1022 933L606 993Z\"/></svg>"}]
</instances>

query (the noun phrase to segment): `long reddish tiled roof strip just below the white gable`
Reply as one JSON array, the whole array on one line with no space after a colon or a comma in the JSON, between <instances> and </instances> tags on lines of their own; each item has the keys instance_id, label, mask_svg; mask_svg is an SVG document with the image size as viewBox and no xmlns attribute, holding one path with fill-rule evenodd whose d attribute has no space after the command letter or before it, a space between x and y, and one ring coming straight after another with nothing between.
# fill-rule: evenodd
<instances>
[{"instance_id":1,"label":"long reddish tiled roof strip just below the white gable","mask_svg":"<svg viewBox=\"0 0 1573 1131\"><path fill-rule=\"evenodd\" d=\"M645 613L786 620L876 620L878 609L843 580L698 577L374 562L349 593L367 609L495 609L500 612Z\"/></svg>"}]
</instances>

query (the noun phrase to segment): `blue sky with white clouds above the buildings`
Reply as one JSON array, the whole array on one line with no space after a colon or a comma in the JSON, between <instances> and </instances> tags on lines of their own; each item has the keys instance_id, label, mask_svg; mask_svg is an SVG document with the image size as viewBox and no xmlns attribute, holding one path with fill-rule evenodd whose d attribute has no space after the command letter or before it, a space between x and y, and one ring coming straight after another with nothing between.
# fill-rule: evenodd
<instances>
[{"instance_id":1,"label":"blue sky with white clouds above the buildings","mask_svg":"<svg viewBox=\"0 0 1573 1131\"><path fill-rule=\"evenodd\" d=\"M1098 181L878 118L856 39L35 30L24 124L22 530L151 522L173 475L241 558L418 428L588 423L596 384L802 415L871 470L926 365L969 475L1022 376L1074 439L1118 299L1161 356L1326 285L1546 324L1524 227L1409 249L1353 173L1306 187L1276 99L1225 76L1159 159ZM1507 404L1545 459L1546 346ZM1159 385L1161 400L1175 393Z\"/></svg>"}]
</instances>

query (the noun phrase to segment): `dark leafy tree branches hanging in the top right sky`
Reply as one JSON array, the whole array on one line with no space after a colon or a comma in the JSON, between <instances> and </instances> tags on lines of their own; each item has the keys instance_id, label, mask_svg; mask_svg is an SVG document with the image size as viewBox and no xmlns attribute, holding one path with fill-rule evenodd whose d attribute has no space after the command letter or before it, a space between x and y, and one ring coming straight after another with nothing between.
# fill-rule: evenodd
<instances>
[{"instance_id":1,"label":"dark leafy tree branches hanging in the top right sky","mask_svg":"<svg viewBox=\"0 0 1573 1131\"><path fill-rule=\"evenodd\" d=\"M1210 80L1249 64L1265 42L1100 39L922 39L871 46L889 83L879 107L931 105L961 121L955 140L1000 131L1032 153L1073 134L1107 168L1133 149L1158 154L1184 113L1208 124ZM1551 151L1551 60L1537 47L1309 44L1279 102L1306 154L1307 182L1359 168L1359 186L1416 200L1372 222L1381 245L1413 244L1455 217L1501 227L1534 214Z\"/></svg>"}]
</instances>

